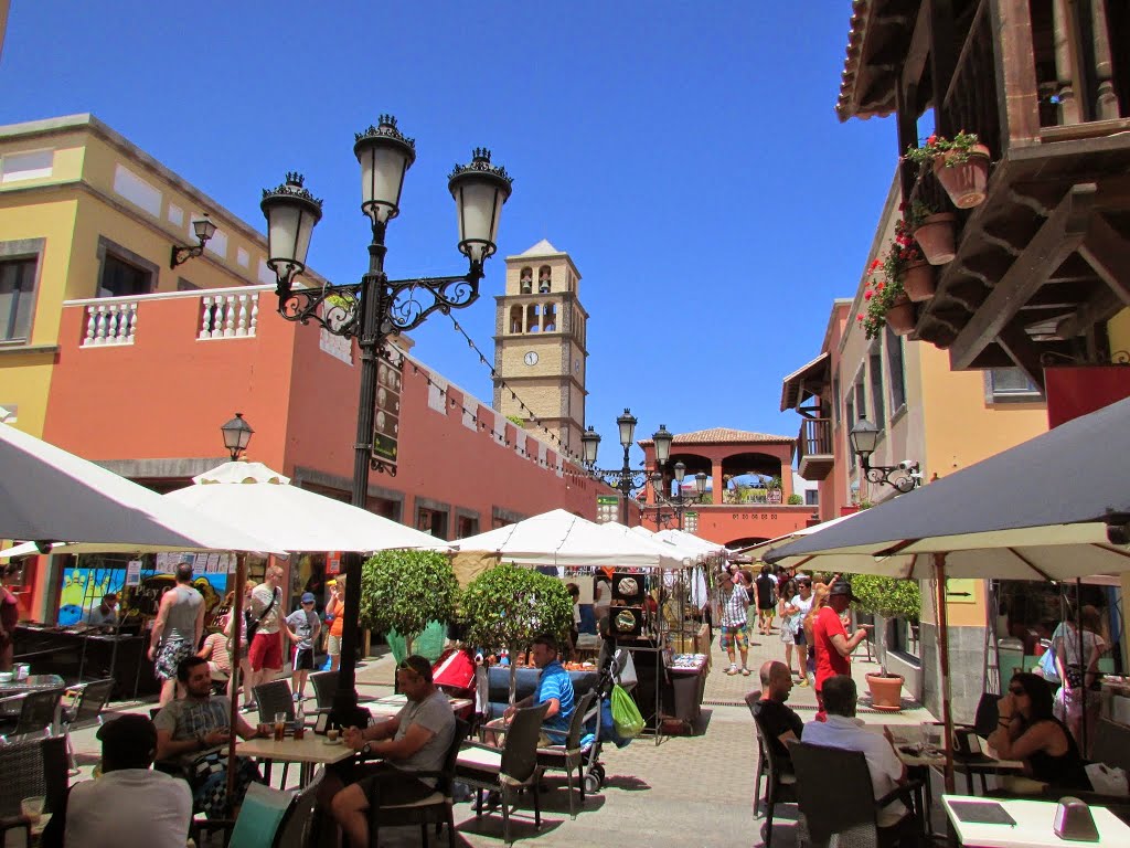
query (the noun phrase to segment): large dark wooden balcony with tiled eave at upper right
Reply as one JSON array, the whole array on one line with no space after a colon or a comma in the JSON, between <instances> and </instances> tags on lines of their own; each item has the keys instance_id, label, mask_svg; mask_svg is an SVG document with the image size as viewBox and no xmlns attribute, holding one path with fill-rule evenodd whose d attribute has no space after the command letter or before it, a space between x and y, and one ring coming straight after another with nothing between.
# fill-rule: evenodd
<instances>
[{"instance_id":1,"label":"large dark wooden balcony with tiled eave at upper right","mask_svg":"<svg viewBox=\"0 0 1130 848\"><path fill-rule=\"evenodd\" d=\"M986 199L958 211L915 337L955 369L1102 361L1105 321L1130 305L1130 14L1112 0L857 3L841 118L897 113L899 152L937 131L989 147ZM896 14L897 12L897 14ZM905 199L945 210L929 172Z\"/></svg>"}]
</instances>

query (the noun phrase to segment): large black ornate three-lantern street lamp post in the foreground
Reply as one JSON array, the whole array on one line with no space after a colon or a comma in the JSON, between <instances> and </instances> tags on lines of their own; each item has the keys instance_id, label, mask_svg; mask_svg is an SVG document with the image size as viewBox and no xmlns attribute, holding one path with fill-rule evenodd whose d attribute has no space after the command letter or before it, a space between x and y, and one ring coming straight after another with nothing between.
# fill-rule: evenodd
<instances>
[{"instance_id":1,"label":"large black ornate three-lantern street lamp post in the foreground","mask_svg":"<svg viewBox=\"0 0 1130 848\"><path fill-rule=\"evenodd\" d=\"M405 174L416 159L414 139L397 129L392 115L381 115L379 126L355 137L354 154L362 171L362 213L371 222L368 272L359 283L307 288L298 283L306 269L306 253L314 225L322 217L322 201L303 185L302 174L288 173L277 189L263 190L261 208L267 217L268 267L278 285L278 311L288 321L314 321L329 332L357 339L360 348L360 397L350 503L366 508L370 467L395 474L388 456L374 455L377 360L389 336L418 327L433 312L450 313L471 305L479 296L484 262L495 252L498 219L513 180L490 164L490 152L476 148L469 165L457 165L447 189L459 218L459 252L467 257L467 274L457 277L420 277L390 280L384 272L385 228L400 210ZM355 691L357 621L360 609L360 554L346 554L345 629L341 665L331 719L339 725L359 718ZM367 720L367 713L365 716Z\"/></svg>"}]
</instances>

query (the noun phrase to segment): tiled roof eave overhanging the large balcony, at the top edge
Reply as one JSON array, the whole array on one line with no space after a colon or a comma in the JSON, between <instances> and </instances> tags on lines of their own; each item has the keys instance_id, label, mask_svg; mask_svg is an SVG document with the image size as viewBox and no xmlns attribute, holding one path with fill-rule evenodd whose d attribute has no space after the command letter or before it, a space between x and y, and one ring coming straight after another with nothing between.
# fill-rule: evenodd
<instances>
[{"instance_id":1,"label":"tiled roof eave overhanging the large balcony, at the top edge","mask_svg":"<svg viewBox=\"0 0 1130 848\"><path fill-rule=\"evenodd\" d=\"M895 111L895 76L906 53L920 0L854 0L836 114L885 116Z\"/></svg>"}]
</instances>

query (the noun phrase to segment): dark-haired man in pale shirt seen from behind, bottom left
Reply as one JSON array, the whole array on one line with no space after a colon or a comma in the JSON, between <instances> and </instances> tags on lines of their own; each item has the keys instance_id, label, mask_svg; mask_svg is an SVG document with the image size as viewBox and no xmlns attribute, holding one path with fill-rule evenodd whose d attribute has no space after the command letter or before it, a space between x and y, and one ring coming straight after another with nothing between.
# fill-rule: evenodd
<instances>
[{"instance_id":1,"label":"dark-haired man in pale shirt seen from behind, bottom left","mask_svg":"<svg viewBox=\"0 0 1130 848\"><path fill-rule=\"evenodd\" d=\"M179 778L153 771L157 728L127 715L98 728L102 777L71 787L43 832L43 848L184 848L192 795Z\"/></svg>"}]
</instances>

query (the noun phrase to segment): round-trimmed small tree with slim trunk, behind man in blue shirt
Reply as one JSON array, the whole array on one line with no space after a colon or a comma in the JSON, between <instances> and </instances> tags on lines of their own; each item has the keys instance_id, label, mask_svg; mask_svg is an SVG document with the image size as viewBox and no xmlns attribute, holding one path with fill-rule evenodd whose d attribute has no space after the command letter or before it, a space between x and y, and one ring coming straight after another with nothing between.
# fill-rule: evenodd
<instances>
[{"instance_id":1,"label":"round-trimmed small tree with slim trunk, behind man in blue shirt","mask_svg":"<svg viewBox=\"0 0 1130 848\"><path fill-rule=\"evenodd\" d=\"M573 625L573 598L555 577L501 563L463 590L467 640L485 651L510 651L510 703L518 687L518 654L539 633L564 641Z\"/></svg>"}]
</instances>

